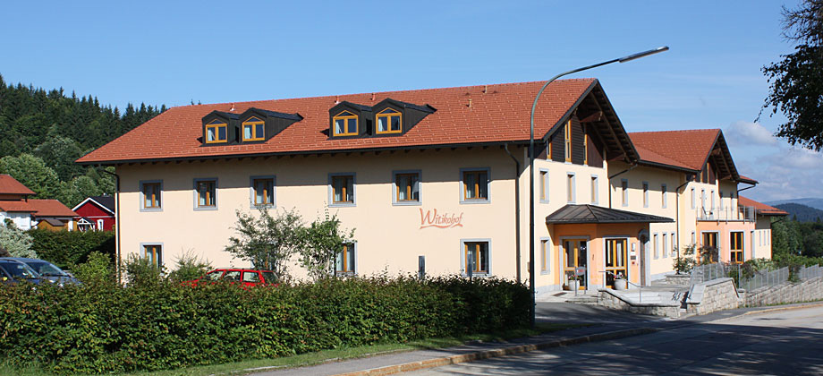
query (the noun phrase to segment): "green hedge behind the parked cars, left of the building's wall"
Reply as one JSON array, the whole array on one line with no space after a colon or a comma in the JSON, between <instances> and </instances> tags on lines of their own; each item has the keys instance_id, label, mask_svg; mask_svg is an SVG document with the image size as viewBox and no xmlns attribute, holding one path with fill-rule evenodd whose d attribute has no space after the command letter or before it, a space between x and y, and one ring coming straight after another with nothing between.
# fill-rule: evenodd
<instances>
[{"instance_id":1,"label":"green hedge behind the parked cars, left of the building's wall","mask_svg":"<svg viewBox=\"0 0 823 376\"><path fill-rule=\"evenodd\" d=\"M60 268L72 268L86 262L89 253L115 254L114 231L27 231L32 238L31 250L38 258L50 261Z\"/></svg>"}]
</instances>

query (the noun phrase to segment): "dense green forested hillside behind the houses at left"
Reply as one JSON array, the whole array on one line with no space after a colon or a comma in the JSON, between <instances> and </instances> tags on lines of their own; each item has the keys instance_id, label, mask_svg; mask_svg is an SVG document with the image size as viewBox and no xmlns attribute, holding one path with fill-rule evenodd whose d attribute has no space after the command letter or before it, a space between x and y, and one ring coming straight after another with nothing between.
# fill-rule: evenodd
<instances>
[{"instance_id":1,"label":"dense green forested hillside behind the houses at left","mask_svg":"<svg viewBox=\"0 0 823 376\"><path fill-rule=\"evenodd\" d=\"M121 112L91 95L13 85L0 75L0 174L28 186L34 198L56 199L70 208L88 196L114 194L115 178L106 169L74 160L165 109L130 103Z\"/></svg>"}]
</instances>

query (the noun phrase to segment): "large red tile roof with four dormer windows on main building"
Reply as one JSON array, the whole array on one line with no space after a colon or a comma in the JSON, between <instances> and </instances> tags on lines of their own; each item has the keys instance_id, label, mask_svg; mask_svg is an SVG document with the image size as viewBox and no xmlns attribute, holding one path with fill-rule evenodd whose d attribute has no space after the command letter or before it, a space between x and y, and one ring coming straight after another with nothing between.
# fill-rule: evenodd
<instances>
[{"instance_id":1,"label":"large red tile roof with four dormer windows on main building","mask_svg":"<svg viewBox=\"0 0 823 376\"><path fill-rule=\"evenodd\" d=\"M524 141L529 139L531 103L544 83L505 83L173 107L77 161L120 162ZM563 120L574 104L597 84L595 79L552 82L540 98L535 114L536 138L545 135ZM385 98L429 105L437 111L401 137L329 140L324 133L329 125L328 110L335 106L335 101L371 106ZM202 147L198 141L202 137L201 118L215 110L228 112L232 107L235 114L257 107L297 113L303 116L303 120L264 143Z\"/></svg>"}]
</instances>

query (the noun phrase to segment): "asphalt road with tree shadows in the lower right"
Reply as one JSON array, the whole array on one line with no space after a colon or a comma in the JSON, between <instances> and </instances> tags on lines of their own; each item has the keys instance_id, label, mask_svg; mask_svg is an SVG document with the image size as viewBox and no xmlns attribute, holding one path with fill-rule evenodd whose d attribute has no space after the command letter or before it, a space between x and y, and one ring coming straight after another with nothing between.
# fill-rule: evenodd
<instances>
[{"instance_id":1,"label":"asphalt road with tree shadows in the lower right","mask_svg":"<svg viewBox=\"0 0 823 376\"><path fill-rule=\"evenodd\" d=\"M407 375L821 375L823 307L696 323Z\"/></svg>"}]
</instances>

